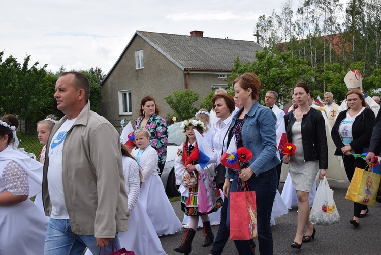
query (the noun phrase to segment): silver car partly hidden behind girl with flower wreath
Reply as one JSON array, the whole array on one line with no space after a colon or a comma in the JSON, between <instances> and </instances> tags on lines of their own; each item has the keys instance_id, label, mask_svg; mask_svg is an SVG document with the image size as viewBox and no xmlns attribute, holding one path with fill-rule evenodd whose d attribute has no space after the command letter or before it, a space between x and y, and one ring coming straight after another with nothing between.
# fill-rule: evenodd
<instances>
[{"instance_id":1,"label":"silver car partly hidden behind girl with flower wreath","mask_svg":"<svg viewBox=\"0 0 381 255\"><path fill-rule=\"evenodd\" d=\"M181 132L180 125L176 122L168 126L167 160L164 165L161 179L168 197L179 196L178 186L176 186L175 158L179 146L184 143L186 134Z\"/></svg>"}]
</instances>

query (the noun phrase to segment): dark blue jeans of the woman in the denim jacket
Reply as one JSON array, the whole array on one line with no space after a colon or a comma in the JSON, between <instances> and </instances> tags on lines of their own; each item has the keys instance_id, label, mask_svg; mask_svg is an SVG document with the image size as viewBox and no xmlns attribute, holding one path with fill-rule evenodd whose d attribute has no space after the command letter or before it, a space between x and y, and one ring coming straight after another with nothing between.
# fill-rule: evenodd
<instances>
[{"instance_id":1,"label":"dark blue jeans of the woman in the denim jacket","mask_svg":"<svg viewBox=\"0 0 381 255\"><path fill-rule=\"evenodd\" d=\"M252 176L247 184L250 191L256 192L257 202L257 227L258 227L258 243L259 252L262 254L273 254L273 241L270 226L272 205L276 195L276 186L278 177L276 168L272 168L266 172L261 173L259 176ZM238 174L234 175L230 192L243 191L241 187L241 179ZM242 189L241 189L242 188ZM229 203L229 202L228 202ZM222 212L222 211L221 211ZM227 227L230 228L230 210L228 208L227 214ZM234 244L239 254L252 254L249 241L234 240Z\"/></svg>"}]
</instances>

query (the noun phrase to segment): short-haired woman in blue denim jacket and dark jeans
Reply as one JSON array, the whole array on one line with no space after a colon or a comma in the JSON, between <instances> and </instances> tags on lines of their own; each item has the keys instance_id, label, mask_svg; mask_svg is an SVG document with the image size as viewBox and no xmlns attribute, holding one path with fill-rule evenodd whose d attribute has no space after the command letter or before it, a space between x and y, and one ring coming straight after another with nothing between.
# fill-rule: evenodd
<instances>
[{"instance_id":1,"label":"short-haired woman in blue denim jacket and dark jeans","mask_svg":"<svg viewBox=\"0 0 381 255\"><path fill-rule=\"evenodd\" d=\"M228 144L235 135L237 148L250 149L253 158L242 165L241 174L228 169L223 192L228 197L229 192L243 191L240 179L247 182L250 191L256 192L259 251L261 254L273 254L270 217L278 182L275 166L280 163L276 156L276 116L272 110L257 102L261 91L261 81L257 75L244 73L233 82L233 86L234 97L243 107L233 117ZM228 228L229 215L228 209ZM253 254L249 241L234 240L234 243L239 254Z\"/></svg>"}]
</instances>

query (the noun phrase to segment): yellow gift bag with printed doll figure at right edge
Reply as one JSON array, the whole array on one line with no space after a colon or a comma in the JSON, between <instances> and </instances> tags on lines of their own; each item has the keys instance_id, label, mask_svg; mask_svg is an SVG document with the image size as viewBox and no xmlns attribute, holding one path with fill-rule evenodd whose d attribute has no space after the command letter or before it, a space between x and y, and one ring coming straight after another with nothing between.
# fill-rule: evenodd
<instances>
[{"instance_id":1,"label":"yellow gift bag with printed doll figure at right edge","mask_svg":"<svg viewBox=\"0 0 381 255\"><path fill-rule=\"evenodd\" d=\"M356 167L345 198L363 205L374 206L380 178L381 175L374 173L370 164L365 169Z\"/></svg>"}]
</instances>

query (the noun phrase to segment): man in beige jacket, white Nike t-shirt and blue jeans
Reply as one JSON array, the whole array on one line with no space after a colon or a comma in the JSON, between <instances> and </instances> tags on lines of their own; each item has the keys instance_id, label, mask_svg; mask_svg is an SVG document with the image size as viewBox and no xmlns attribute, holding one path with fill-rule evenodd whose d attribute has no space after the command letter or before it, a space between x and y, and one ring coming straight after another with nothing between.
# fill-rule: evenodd
<instances>
[{"instance_id":1,"label":"man in beige jacket, white Nike t-shirt and blue jeans","mask_svg":"<svg viewBox=\"0 0 381 255\"><path fill-rule=\"evenodd\" d=\"M126 231L129 213L119 134L90 110L90 83L79 72L62 73L55 85L57 108L65 116L46 146L42 195L50 216L45 255L112 252L116 234ZM99 246L99 247L97 247Z\"/></svg>"}]
</instances>

